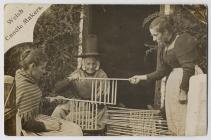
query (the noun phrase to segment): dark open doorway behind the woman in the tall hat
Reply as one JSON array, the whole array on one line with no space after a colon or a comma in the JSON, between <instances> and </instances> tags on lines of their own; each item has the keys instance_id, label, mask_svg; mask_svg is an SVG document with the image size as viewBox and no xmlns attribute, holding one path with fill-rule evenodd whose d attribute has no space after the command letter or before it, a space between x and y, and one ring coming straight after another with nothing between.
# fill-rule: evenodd
<instances>
[{"instance_id":1,"label":"dark open doorway behind the woman in the tall hat","mask_svg":"<svg viewBox=\"0 0 211 140\"><path fill-rule=\"evenodd\" d=\"M101 66L109 77L129 78L152 71L144 61L145 42L152 40L142 22L159 11L159 5L94 5L91 33L98 36ZM153 104L154 84L119 83L118 100L127 107L146 108Z\"/></svg>"}]
</instances>

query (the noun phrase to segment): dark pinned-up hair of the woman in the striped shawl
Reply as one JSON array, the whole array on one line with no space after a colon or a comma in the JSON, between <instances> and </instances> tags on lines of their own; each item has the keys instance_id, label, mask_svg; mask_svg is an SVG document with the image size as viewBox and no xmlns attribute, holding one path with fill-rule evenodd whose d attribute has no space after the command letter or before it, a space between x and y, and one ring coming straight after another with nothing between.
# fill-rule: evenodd
<instances>
[{"instance_id":1,"label":"dark pinned-up hair of the woman in the striped shawl","mask_svg":"<svg viewBox=\"0 0 211 140\"><path fill-rule=\"evenodd\" d=\"M38 66L47 61L47 57L41 49L27 49L22 53L20 59L20 64L25 70L32 63Z\"/></svg>"}]
</instances>

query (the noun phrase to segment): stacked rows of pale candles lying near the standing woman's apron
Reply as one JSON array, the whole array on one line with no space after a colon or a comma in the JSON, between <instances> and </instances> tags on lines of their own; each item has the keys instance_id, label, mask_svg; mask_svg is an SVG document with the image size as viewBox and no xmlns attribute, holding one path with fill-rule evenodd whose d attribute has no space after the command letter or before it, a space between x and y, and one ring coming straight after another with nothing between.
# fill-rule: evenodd
<instances>
[{"instance_id":1,"label":"stacked rows of pale candles lying near the standing woman's apron","mask_svg":"<svg viewBox=\"0 0 211 140\"><path fill-rule=\"evenodd\" d=\"M172 135L166 120L158 110L140 110L109 107L107 124L108 136L160 136Z\"/></svg>"}]
</instances>

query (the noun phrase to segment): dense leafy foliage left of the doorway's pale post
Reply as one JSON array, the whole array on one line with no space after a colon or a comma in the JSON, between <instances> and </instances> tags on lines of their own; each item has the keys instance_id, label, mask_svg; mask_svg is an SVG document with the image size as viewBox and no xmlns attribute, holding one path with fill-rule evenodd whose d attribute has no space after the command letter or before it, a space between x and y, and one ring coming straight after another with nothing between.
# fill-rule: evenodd
<instances>
[{"instance_id":1,"label":"dense leafy foliage left of the doorway's pale post","mask_svg":"<svg viewBox=\"0 0 211 140\"><path fill-rule=\"evenodd\" d=\"M41 82L46 94L77 66L81 8L81 5L52 5L35 25L34 43L49 58L47 75Z\"/></svg>"}]
</instances>

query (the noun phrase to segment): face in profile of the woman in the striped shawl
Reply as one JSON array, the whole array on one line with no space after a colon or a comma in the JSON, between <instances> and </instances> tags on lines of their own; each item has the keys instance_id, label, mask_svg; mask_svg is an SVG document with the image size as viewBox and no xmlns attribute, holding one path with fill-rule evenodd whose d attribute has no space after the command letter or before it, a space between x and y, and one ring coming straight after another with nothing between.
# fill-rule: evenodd
<instances>
[{"instance_id":1,"label":"face in profile of the woman in the striped shawl","mask_svg":"<svg viewBox=\"0 0 211 140\"><path fill-rule=\"evenodd\" d=\"M35 80L40 80L46 72L45 68L46 68L46 62L41 63L38 66L34 65L32 70L31 70L32 77Z\"/></svg>"}]
</instances>

